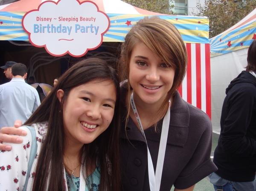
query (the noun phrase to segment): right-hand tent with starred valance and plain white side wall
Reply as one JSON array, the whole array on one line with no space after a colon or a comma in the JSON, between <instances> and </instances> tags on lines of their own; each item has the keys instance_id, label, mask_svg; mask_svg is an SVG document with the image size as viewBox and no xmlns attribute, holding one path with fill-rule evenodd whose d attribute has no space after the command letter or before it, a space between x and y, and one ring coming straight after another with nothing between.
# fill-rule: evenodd
<instances>
[{"instance_id":1,"label":"right-hand tent with starred valance and plain white side wall","mask_svg":"<svg viewBox=\"0 0 256 191\"><path fill-rule=\"evenodd\" d=\"M210 39L212 129L220 132L221 108L230 81L247 66L247 51L256 39L256 9L230 29Z\"/></svg>"}]
</instances>

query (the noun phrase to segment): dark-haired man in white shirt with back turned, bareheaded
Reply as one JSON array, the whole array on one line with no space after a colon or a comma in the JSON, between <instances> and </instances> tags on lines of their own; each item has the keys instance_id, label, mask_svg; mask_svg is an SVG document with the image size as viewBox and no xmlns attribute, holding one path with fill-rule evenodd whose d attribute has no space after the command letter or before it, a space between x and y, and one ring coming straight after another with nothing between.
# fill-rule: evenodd
<instances>
[{"instance_id":1,"label":"dark-haired man in white shirt with back turned, bareheaded","mask_svg":"<svg viewBox=\"0 0 256 191\"><path fill-rule=\"evenodd\" d=\"M12 126L19 119L24 123L40 105L38 92L25 82L24 64L12 66L12 80L0 85L0 128Z\"/></svg>"}]
</instances>

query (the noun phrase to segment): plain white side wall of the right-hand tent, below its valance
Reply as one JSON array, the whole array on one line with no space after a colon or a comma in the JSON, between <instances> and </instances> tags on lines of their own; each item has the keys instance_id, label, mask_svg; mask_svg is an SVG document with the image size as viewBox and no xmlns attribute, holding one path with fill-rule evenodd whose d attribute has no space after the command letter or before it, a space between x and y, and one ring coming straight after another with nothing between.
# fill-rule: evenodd
<instances>
[{"instance_id":1,"label":"plain white side wall of the right-hand tent, below its valance","mask_svg":"<svg viewBox=\"0 0 256 191\"><path fill-rule=\"evenodd\" d=\"M220 133L221 108L226 88L247 65L247 51L248 48L244 48L211 57L212 130L217 134Z\"/></svg>"}]
</instances>

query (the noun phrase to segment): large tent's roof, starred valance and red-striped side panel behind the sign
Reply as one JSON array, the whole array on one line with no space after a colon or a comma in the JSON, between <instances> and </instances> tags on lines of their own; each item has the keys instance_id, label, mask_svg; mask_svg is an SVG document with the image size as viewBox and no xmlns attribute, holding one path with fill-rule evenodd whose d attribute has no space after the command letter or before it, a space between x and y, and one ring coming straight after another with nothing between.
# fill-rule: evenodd
<instances>
[{"instance_id":1,"label":"large tent's roof, starred valance and red-striped side panel behind the sign","mask_svg":"<svg viewBox=\"0 0 256 191\"><path fill-rule=\"evenodd\" d=\"M57 0L54 0L57 2ZM84 0L79 0L83 2ZM139 9L121 0L91 0L110 18L105 42L122 42L131 27L145 16L157 15L179 30L188 51L187 74L179 92L183 99L202 109L211 117L209 20L207 17L163 15ZM20 0L0 6L0 40L28 40L23 31L23 15L38 9L44 0Z\"/></svg>"}]
</instances>

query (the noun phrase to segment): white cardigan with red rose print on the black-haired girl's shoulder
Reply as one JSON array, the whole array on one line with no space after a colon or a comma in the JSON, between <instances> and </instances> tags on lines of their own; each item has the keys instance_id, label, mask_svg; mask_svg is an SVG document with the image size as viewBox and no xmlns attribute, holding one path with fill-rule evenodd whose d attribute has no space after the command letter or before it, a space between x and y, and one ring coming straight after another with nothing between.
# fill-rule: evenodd
<instances>
[{"instance_id":1,"label":"white cardigan with red rose print on the black-haired girl's shoulder","mask_svg":"<svg viewBox=\"0 0 256 191\"><path fill-rule=\"evenodd\" d=\"M33 124L36 133L37 153L33 162L27 191L32 190L33 178L35 177L35 166L40 153L41 143L46 134L47 123ZM28 162L31 150L32 136L25 126L20 127L27 131L26 137L21 144L12 145L11 151L0 151L0 191L22 191L28 176ZM9 144L9 143L8 143Z\"/></svg>"}]
</instances>

